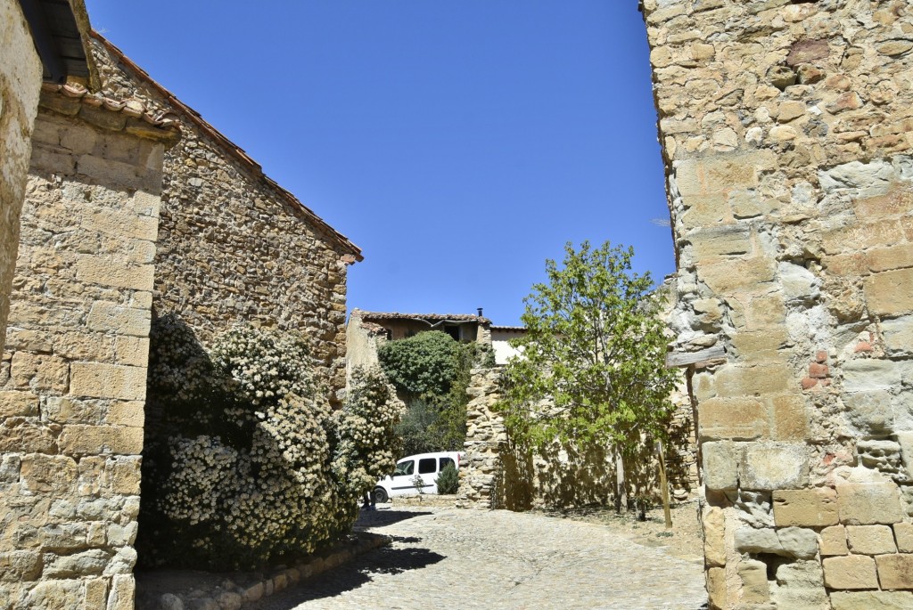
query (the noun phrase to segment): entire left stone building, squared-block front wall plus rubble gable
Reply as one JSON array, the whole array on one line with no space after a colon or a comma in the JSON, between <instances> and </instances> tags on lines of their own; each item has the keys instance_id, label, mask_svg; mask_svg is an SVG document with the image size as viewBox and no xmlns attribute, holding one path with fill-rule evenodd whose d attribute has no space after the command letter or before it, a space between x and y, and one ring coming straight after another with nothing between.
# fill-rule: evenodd
<instances>
[{"instance_id":1,"label":"entire left stone building, squared-block front wall plus rubble gable","mask_svg":"<svg viewBox=\"0 0 913 610\"><path fill-rule=\"evenodd\" d=\"M126 610L153 318L204 344L236 320L299 330L335 396L361 253L89 35L78 2L47 5L53 47L91 49L88 76L46 61L66 83L42 86L38 30L0 0L0 607Z\"/></svg>"}]
</instances>

